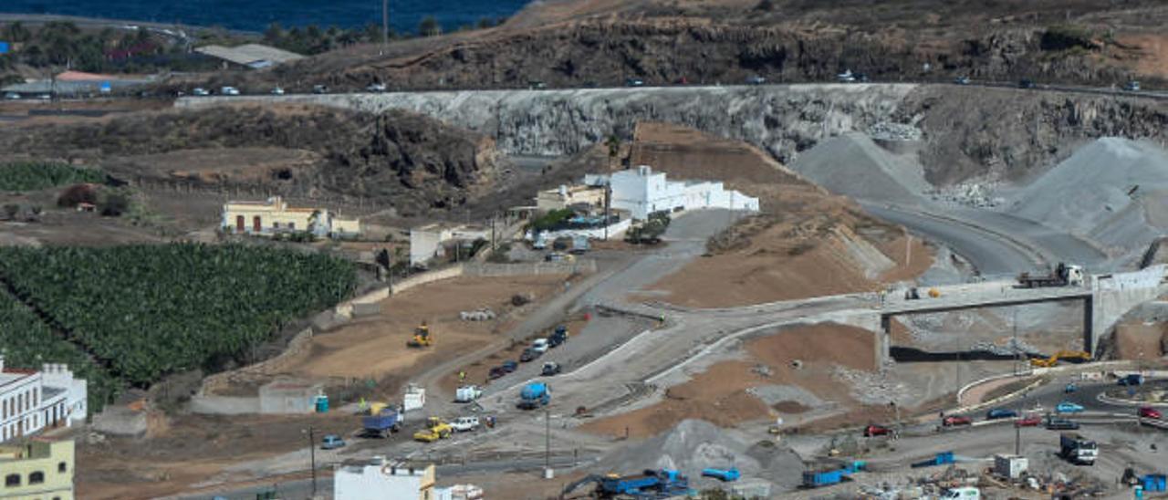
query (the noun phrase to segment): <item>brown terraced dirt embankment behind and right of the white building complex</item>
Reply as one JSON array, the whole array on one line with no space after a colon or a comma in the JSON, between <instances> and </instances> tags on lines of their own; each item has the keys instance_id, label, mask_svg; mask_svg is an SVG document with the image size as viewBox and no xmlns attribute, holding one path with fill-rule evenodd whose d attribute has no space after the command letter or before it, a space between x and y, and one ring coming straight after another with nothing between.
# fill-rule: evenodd
<instances>
[{"instance_id":1,"label":"brown terraced dirt embankment behind and right of the white building complex","mask_svg":"<svg viewBox=\"0 0 1168 500\"><path fill-rule=\"evenodd\" d=\"M631 165L721 180L758 196L763 209L711 238L708 257L654 285L668 292L666 301L730 307L871 291L932 264L931 250L910 242L902 228L874 220L745 143L666 124L639 124L634 137Z\"/></svg>"}]
</instances>

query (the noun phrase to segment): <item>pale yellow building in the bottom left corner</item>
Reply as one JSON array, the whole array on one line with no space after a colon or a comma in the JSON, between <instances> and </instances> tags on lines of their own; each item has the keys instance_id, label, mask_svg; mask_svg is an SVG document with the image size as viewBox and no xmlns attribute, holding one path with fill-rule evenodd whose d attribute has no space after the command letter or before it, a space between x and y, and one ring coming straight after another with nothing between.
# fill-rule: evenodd
<instances>
[{"instance_id":1,"label":"pale yellow building in the bottom left corner","mask_svg":"<svg viewBox=\"0 0 1168 500\"><path fill-rule=\"evenodd\" d=\"M74 442L0 446L0 499L72 500Z\"/></svg>"}]
</instances>

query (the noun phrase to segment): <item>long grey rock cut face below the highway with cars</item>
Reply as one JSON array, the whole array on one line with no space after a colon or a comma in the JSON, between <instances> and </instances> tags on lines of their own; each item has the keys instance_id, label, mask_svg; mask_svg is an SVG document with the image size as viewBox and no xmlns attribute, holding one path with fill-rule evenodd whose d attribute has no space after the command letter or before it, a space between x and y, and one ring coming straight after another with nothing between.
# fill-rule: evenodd
<instances>
[{"instance_id":1,"label":"long grey rock cut face below the highway with cars","mask_svg":"<svg viewBox=\"0 0 1168 500\"><path fill-rule=\"evenodd\" d=\"M239 99L239 98L232 98ZM1122 136L1163 140L1168 103L1146 98L916 84L683 86L544 91L401 92L255 97L367 112L409 110L494 138L513 154L563 155L632 137L663 121L739 139L790 164L844 132L901 124L920 133L927 179L948 185L1020 179L1083 141ZM182 99L200 106L215 98ZM887 127L883 127L887 129Z\"/></svg>"}]
</instances>

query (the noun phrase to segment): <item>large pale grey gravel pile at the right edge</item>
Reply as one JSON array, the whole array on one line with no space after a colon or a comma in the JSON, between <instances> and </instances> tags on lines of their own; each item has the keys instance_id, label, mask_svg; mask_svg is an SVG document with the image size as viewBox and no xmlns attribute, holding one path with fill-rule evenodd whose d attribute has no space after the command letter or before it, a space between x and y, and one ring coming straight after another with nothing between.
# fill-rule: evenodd
<instances>
[{"instance_id":1,"label":"large pale grey gravel pile at the right edge","mask_svg":"<svg viewBox=\"0 0 1168 500\"><path fill-rule=\"evenodd\" d=\"M1168 228L1168 152L1121 138L1079 148L1013 199L1011 211L1111 250L1142 252Z\"/></svg>"}]
</instances>

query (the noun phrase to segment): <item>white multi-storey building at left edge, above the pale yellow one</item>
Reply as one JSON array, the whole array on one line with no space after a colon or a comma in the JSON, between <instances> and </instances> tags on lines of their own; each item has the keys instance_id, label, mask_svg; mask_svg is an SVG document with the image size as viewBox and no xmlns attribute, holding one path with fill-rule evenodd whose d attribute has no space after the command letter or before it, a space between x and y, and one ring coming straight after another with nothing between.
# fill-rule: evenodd
<instances>
[{"instance_id":1,"label":"white multi-storey building at left edge, above the pale yellow one","mask_svg":"<svg viewBox=\"0 0 1168 500\"><path fill-rule=\"evenodd\" d=\"M0 356L0 443L84 423L86 397L85 381L75 379L65 364L44 364L41 371L6 369Z\"/></svg>"}]
</instances>

